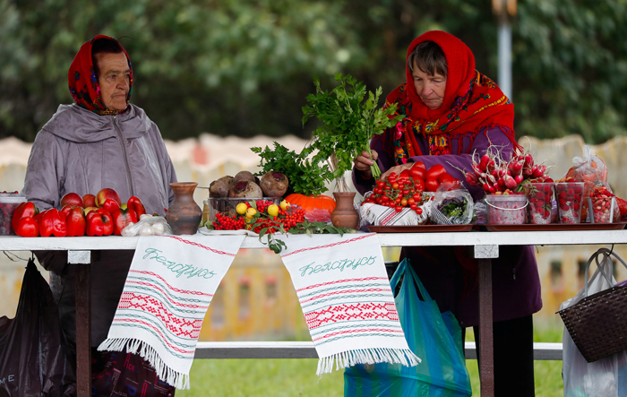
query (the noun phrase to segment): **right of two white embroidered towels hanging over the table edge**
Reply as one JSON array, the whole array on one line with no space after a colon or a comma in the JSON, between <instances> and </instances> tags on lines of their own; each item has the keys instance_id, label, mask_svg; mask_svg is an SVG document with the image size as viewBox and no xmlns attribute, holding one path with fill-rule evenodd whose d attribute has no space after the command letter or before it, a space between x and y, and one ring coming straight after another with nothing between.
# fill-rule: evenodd
<instances>
[{"instance_id":1,"label":"right of two white embroidered towels hanging over the table edge","mask_svg":"<svg viewBox=\"0 0 627 397\"><path fill-rule=\"evenodd\" d=\"M405 340L375 233L290 236L281 253L320 361L340 367L420 362Z\"/></svg>"}]
</instances>

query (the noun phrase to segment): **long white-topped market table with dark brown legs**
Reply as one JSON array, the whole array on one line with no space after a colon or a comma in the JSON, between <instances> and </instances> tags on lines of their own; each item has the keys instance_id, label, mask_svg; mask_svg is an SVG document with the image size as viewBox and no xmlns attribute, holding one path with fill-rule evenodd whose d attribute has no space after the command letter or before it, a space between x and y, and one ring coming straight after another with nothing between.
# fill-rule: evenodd
<instances>
[{"instance_id":1,"label":"long white-topped market table with dark brown legs","mask_svg":"<svg viewBox=\"0 0 627 397\"><path fill-rule=\"evenodd\" d=\"M494 396L492 333L492 259L499 246L554 246L627 244L627 230L499 231L448 233L380 233L381 246L468 246L478 262L481 395ZM210 237L207 237L210 238ZM315 237L314 237L315 238ZM0 250L64 250L68 262L79 264L76 281L76 362L80 397L91 395L90 266L91 251L134 249L139 237L0 237ZM246 237L242 248L265 248L256 237ZM243 346L244 348L244 346Z\"/></svg>"}]
</instances>

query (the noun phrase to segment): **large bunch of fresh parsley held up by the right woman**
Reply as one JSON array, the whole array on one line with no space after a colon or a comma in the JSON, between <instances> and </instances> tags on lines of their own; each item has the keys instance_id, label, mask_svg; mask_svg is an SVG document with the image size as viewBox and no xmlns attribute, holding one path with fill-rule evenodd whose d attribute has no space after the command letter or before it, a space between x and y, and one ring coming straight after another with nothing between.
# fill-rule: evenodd
<instances>
[{"instance_id":1,"label":"large bunch of fresh parsley held up by the right woman","mask_svg":"<svg viewBox=\"0 0 627 397\"><path fill-rule=\"evenodd\" d=\"M314 163L329 161L334 178L339 178L353 168L353 160L362 151L370 153L370 140L382 134L402 119L394 116L396 104L379 108L382 88L375 93L368 91L365 84L350 75L335 75L339 85L332 91L322 91L320 81L314 79L315 93L307 96L308 105L303 107L303 125L311 117L318 118L322 125L314 131L314 142L307 148L314 154ZM373 176L381 176L374 163ZM342 188L340 187L340 190ZM346 189L343 189L346 190Z\"/></svg>"}]
</instances>

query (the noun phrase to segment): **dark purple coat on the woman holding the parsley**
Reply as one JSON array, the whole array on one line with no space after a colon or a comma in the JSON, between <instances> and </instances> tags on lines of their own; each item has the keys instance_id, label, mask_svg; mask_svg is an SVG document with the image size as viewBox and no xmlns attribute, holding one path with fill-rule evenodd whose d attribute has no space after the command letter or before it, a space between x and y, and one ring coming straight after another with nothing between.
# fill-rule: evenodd
<instances>
[{"instance_id":1,"label":"dark purple coat on the woman holding the parsley","mask_svg":"<svg viewBox=\"0 0 627 397\"><path fill-rule=\"evenodd\" d=\"M489 137L489 140L488 140ZM428 153L425 138L417 137L418 145L423 153ZM502 147L503 152L512 151L512 143L499 128L483 130L477 134L472 142L464 138L460 155L417 156L413 161L422 161L425 168L441 164L452 177L464 181L464 186L480 200L484 192L480 187L468 186L461 169L471 169L472 153L477 151L483 155L492 142ZM383 148L382 140L373 140L371 145L379 154L379 167L384 172L395 166L391 157L391 148ZM460 142L451 139L451 152L457 153ZM353 170L353 181L357 191L361 194L372 190L374 179L365 180L359 171ZM478 324L478 296L477 272L464 268L459 257L463 257L463 247L436 246L436 247L403 247L401 258L408 257L417 271L417 275L425 288L440 306L442 312L450 310L460 321L462 327ZM472 260L470 261L472 263ZM510 320L526 315L532 315L542 308L540 296L540 279L537 274L536 255L533 246L499 246L499 258L493 263L493 299L494 321Z\"/></svg>"}]
</instances>

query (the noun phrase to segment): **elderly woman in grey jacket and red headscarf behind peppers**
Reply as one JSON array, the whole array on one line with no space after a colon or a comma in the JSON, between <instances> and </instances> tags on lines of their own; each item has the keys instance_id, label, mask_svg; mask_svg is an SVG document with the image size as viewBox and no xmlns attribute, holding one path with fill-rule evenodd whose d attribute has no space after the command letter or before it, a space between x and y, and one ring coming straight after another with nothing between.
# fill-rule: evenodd
<instances>
[{"instance_id":1,"label":"elderly woman in grey jacket and red headscarf behind peppers","mask_svg":"<svg viewBox=\"0 0 627 397\"><path fill-rule=\"evenodd\" d=\"M66 193L113 188L123 203L140 197L148 213L165 214L174 201L175 169L155 125L129 103L133 67L116 39L96 36L68 73L76 103L61 105L35 139L22 194L40 210L58 207ZM61 324L75 341L73 268L66 252L38 253L50 273ZM101 251L91 265L91 344L107 338L133 251Z\"/></svg>"}]
</instances>

